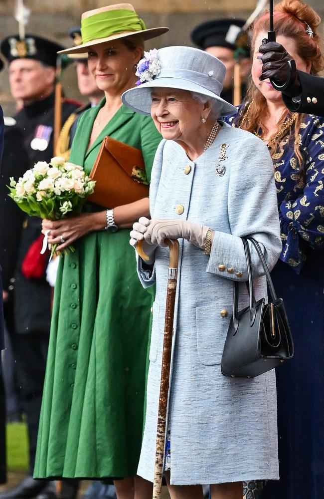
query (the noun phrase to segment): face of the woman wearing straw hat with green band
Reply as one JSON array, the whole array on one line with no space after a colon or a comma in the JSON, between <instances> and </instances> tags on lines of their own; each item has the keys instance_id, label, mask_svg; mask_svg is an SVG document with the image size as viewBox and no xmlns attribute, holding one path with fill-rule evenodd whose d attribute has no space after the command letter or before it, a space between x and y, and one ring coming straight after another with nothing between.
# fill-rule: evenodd
<instances>
[{"instance_id":1,"label":"face of the woman wearing straw hat with green band","mask_svg":"<svg viewBox=\"0 0 324 499\"><path fill-rule=\"evenodd\" d=\"M88 67L100 90L123 92L135 84L135 64L141 56L141 47L130 50L117 39L90 47Z\"/></svg>"}]
</instances>

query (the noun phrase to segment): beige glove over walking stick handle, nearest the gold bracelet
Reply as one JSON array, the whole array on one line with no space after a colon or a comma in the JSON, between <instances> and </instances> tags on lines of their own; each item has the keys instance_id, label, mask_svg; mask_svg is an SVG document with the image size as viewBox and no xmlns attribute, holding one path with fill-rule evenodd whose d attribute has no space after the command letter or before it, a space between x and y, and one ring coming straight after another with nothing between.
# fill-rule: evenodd
<instances>
[{"instance_id":1,"label":"beige glove over walking stick handle, nearest the gold bracelet","mask_svg":"<svg viewBox=\"0 0 324 499\"><path fill-rule=\"evenodd\" d=\"M188 220L153 219L143 233L149 245L165 247L164 239L186 239L197 248L205 249L209 227Z\"/></svg>"}]
</instances>

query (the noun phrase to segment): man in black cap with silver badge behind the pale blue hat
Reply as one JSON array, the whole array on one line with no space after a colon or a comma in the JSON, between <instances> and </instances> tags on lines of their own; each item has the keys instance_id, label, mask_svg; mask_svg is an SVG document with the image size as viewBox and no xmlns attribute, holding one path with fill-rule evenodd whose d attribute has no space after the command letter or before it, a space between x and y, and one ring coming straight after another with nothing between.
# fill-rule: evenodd
<instances>
[{"instance_id":1,"label":"man in black cap with silver badge behind the pale blue hat","mask_svg":"<svg viewBox=\"0 0 324 499\"><path fill-rule=\"evenodd\" d=\"M226 75L220 96L230 104L233 103L235 62L240 64L242 96L246 92L245 80L251 67L247 38L241 46L237 46L238 35L244 24L243 19L214 19L199 24L191 33L192 41L199 48L214 55L225 65Z\"/></svg>"}]
</instances>

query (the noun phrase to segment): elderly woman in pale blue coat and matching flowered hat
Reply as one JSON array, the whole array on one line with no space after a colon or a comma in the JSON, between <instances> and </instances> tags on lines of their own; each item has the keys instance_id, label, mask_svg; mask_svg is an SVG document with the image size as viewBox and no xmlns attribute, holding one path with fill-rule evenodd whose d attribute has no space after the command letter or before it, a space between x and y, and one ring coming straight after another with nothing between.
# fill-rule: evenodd
<instances>
[{"instance_id":1,"label":"elderly woman in pale blue coat and matching flowered hat","mask_svg":"<svg viewBox=\"0 0 324 499\"><path fill-rule=\"evenodd\" d=\"M146 54L129 107L149 114L162 140L152 170L152 220L134 224L131 244L144 287L156 282L147 414L138 473L153 481L162 361L168 250L179 239L179 271L168 399L165 477L171 498L241 499L242 481L278 479L275 372L253 379L221 374L233 307L248 305L241 241L253 236L269 268L281 250L273 165L265 144L217 121L233 107L220 97L223 64L189 47ZM150 65L151 64L151 65ZM209 250L211 243L211 250ZM205 250L205 251L204 251ZM250 245L257 299L267 296L261 263ZM207 254L206 254L207 253ZM210 253L210 254L208 254Z\"/></svg>"}]
</instances>

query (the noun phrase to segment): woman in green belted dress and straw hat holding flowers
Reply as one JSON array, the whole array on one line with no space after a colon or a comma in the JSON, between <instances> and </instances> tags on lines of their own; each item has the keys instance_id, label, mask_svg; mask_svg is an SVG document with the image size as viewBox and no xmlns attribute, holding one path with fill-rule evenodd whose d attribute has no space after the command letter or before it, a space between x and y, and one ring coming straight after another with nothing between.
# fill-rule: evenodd
<instances>
[{"instance_id":1,"label":"woman in green belted dress and straw hat holding flowers","mask_svg":"<svg viewBox=\"0 0 324 499\"><path fill-rule=\"evenodd\" d=\"M120 96L136 83L143 40L166 30L146 30L130 4L82 14L84 43L67 51L88 51L89 70L105 91L81 116L72 144L70 161L87 173L109 135L142 150L150 178L161 136ZM50 244L63 250L73 243L75 252L58 269L34 477L123 479L114 480L118 499L145 499L152 484L136 473L153 300L138 281L129 228L149 216L149 199L86 208L78 217L43 222Z\"/></svg>"}]
</instances>

